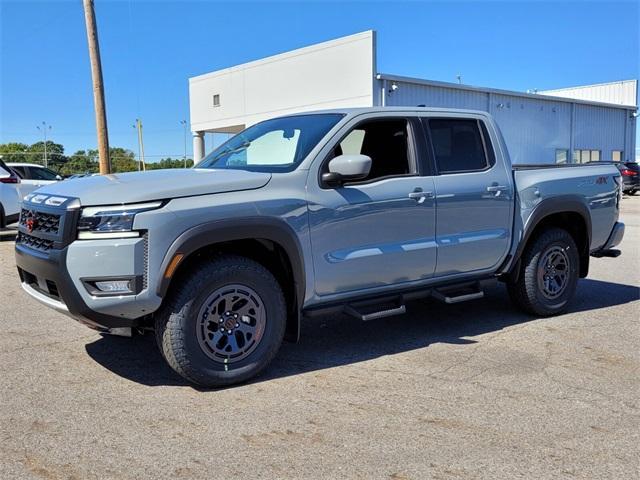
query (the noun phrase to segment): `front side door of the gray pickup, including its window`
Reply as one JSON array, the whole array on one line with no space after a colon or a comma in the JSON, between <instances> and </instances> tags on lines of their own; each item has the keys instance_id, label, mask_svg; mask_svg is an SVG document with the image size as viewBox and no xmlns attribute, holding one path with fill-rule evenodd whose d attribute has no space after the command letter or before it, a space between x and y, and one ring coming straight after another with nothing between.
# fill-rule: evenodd
<instances>
[{"instance_id":1,"label":"front side door of the gray pickup, including its window","mask_svg":"<svg viewBox=\"0 0 640 480\"><path fill-rule=\"evenodd\" d=\"M415 131L404 117L361 121L325 159L359 153L369 176L338 188L308 180L316 295L365 291L433 276L436 262L434 183L420 176ZM418 134L422 134L418 132ZM313 169L312 169L313 172Z\"/></svg>"}]
</instances>

